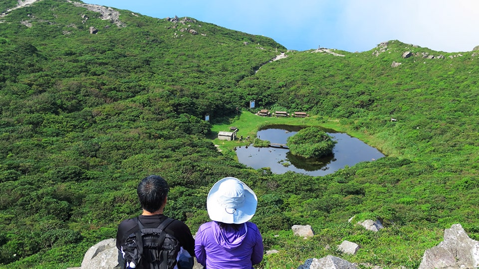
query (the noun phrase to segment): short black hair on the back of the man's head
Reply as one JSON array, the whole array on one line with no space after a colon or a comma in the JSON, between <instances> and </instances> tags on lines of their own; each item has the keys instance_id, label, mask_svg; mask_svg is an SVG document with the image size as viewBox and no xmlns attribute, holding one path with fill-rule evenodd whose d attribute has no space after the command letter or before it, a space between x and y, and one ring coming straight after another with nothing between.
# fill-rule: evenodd
<instances>
[{"instance_id":1,"label":"short black hair on the back of the man's head","mask_svg":"<svg viewBox=\"0 0 479 269\"><path fill-rule=\"evenodd\" d=\"M141 207L150 213L154 213L165 203L168 190L168 183L163 177L150 175L140 181L136 192Z\"/></svg>"}]
</instances>

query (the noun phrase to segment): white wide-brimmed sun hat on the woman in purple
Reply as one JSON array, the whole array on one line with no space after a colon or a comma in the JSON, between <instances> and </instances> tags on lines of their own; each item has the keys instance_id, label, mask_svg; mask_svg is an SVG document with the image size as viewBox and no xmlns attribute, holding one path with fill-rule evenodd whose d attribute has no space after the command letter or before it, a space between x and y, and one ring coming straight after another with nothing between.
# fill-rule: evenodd
<instances>
[{"instance_id":1,"label":"white wide-brimmed sun hat on the woman in purple","mask_svg":"<svg viewBox=\"0 0 479 269\"><path fill-rule=\"evenodd\" d=\"M216 182L206 200L210 219L230 224L249 221L256 212L257 204L256 194L234 177L225 177Z\"/></svg>"}]
</instances>

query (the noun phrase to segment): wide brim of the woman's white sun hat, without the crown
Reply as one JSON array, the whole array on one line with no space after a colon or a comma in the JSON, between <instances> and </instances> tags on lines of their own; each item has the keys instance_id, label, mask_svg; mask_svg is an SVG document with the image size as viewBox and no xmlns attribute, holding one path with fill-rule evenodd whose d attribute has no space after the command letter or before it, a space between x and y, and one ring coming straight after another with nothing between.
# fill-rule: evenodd
<instances>
[{"instance_id":1,"label":"wide brim of the woman's white sun hat, without the crown","mask_svg":"<svg viewBox=\"0 0 479 269\"><path fill-rule=\"evenodd\" d=\"M218 189L220 184L230 179L238 180L238 182L241 183L244 189L243 193L245 198L242 205L239 208L236 208L233 213L227 212L227 210L218 202ZM230 224L241 224L249 221L256 212L257 204L258 198L256 197L256 194L241 180L234 177L225 177L216 182L208 193L208 198L206 199L206 207L208 209L208 215L210 216L210 219L213 221Z\"/></svg>"}]
</instances>

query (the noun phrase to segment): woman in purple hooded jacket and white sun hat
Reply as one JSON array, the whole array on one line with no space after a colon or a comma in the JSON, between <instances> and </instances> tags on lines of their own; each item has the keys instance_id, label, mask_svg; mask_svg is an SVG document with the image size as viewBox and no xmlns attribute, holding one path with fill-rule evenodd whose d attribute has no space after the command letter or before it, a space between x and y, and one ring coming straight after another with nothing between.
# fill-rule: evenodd
<instances>
[{"instance_id":1,"label":"woman in purple hooded jacket and white sun hat","mask_svg":"<svg viewBox=\"0 0 479 269\"><path fill-rule=\"evenodd\" d=\"M263 259L258 227L248 222L258 199L234 177L216 182L208 193L211 222L200 226L195 238L197 261L207 269L251 269Z\"/></svg>"}]
</instances>

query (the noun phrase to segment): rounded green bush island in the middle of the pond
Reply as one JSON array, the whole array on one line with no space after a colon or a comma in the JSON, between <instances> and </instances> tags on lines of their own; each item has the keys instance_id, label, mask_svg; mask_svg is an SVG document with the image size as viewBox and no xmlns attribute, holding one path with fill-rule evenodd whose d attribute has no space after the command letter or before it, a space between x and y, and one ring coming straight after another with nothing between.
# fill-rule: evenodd
<instances>
[{"instance_id":1,"label":"rounded green bush island in the middle of the pond","mask_svg":"<svg viewBox=\"0 0 479 269\"><path fill-rule=\"evenodd\" d=\"M288 137L289 151L304 158L319 158L332 154L335 141L316 127L308 127Z\"/></svg>"}]
</instances>

